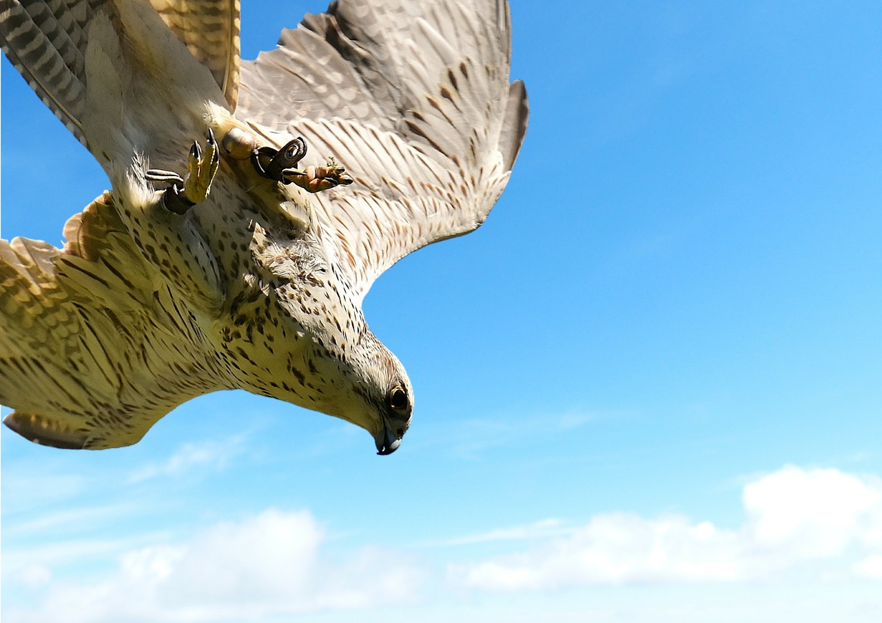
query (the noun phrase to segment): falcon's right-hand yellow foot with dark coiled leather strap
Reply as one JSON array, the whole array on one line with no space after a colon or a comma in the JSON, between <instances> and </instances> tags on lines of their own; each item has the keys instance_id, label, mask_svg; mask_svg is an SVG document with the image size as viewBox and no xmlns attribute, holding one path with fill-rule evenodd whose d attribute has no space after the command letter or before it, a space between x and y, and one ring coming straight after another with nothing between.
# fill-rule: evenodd
<instances>
[{"instance_id":1,"label":"falcon's right-hand yellow foot with dark coiled leather strap","mask_svg":"<svg viewBox=\"0 0 882 623\"><path fill-rule=\"evenodd\" d=\"M251 154L251 164L257 172L283 184L295 184L310 193L333 189L341 184L351 184L352 178L340 167L333 156L325 167L295 168L306 155L306 142L297 137L280 150L260 147Z\"/></svg>"}]
</instances>

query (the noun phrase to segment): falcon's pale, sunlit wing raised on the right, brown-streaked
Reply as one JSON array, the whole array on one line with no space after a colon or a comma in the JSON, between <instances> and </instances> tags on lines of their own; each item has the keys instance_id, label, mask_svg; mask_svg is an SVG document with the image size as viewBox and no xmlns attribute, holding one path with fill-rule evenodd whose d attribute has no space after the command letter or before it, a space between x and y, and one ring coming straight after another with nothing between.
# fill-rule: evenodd
<instances>
[{"instance_id":1,"label":"falcon's pale, sunlit wing raised on the right, brown-streaked","mask_svg":"<svg viewBox=\"0 0 882 623\"><path fill-rule=\"evenodd\" d=\"M236 116L355 178L312 200L362 295L407 253L480 226L505 188L527 127L510 40L505 0L341 0L243 62Z\"/></svg>"}]
</instances>

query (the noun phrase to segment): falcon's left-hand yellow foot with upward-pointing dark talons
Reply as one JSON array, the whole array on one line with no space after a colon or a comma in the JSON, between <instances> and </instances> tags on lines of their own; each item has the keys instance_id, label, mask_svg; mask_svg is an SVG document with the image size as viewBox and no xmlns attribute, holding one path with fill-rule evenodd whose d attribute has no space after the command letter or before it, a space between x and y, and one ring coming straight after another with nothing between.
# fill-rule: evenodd
<instances>
[{"instance_id":1,"label":"falcon's left-hand yellow foot with upward-pointing dark talons","mask_svg":"<svg viewBox=\"0 0 882 623\"><path fill-rule=\"evenodd\" d=\"M221 164L214 133L208 129L205 150L198 141L193 142L187 156L187 176L182 178L174 171L150 169L147 180L150 182L168 182L170 185L162 195L162 204L176 214L183 214L194 205L205 201L211 191L214 175Z\"/></svg>"}]
</instances>

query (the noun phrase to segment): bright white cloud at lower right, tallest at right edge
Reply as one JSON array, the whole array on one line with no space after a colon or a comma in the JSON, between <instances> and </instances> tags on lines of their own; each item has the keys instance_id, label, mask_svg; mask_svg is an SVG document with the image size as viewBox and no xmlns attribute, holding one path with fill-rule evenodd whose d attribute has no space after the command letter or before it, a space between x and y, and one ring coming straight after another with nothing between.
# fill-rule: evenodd
<instances>
[{"instance_id":1,"label":"bright white cloud at lower right, tallest at right edge","mask_svg":"<svg viewBox=\"0 0 882 623\"><path fill-rule=\"evenodd\" d=\"M454 582L483 590L590 584L734 582L809 560L882 579L882 482L838 470L785 467L744 486L737 530L673 515L597 515L564 538L472 565ZM835 565L833 566L835 567Z\"/></svg>"}]
</instances>

